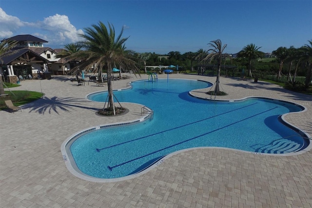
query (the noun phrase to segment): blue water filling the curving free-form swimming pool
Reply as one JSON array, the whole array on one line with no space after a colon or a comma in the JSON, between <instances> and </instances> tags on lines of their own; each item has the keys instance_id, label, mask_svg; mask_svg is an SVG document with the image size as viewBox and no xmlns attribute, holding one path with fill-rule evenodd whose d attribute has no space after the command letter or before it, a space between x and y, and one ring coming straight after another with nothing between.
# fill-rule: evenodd
<instances>
[{"instance_id":1,"label":"blue water filling the curving free-form swimming pool","mask_svg":"<svg viewBox=\"0 0 312 208\"><path fill-rule=\"evenodd\" d=\"M195 80L142 80L115 91L119 102L143 104L154 119L82 134L70 146L78 168L97 178L118 178L141 171L172 152L216 146L259 153L289 153L305 146L302 137L278 117L299 106L270 99L239 102L197 99L189 91L211 86ZM104 102L107 92L90 95ZM207 95L208 97L208 95Z\"/></svg>"}]
</instances>

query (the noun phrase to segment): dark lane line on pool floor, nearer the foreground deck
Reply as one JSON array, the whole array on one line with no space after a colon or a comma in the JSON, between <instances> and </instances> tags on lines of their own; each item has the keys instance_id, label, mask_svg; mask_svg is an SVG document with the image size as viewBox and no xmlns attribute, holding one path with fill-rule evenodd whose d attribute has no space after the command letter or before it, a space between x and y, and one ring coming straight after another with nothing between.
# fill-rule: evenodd
<instances>
[{"instance_id":1,"label":"dark lane line on pool floor, nearer the foreground deck","mask_svg":"<svg viewBox=\"0 0 312 208\"><path fill-rule=\"evenodd\" d=\"M110 171L112 171L115 167L122 166L122 165L125 165L125 164L128 164L128 163L131 163L131 162L136 161L136 160L138 160L138 159L141 159L141 158L143 158L143 157L147 157L147 156L149 156L149 155L155 154L156 152L160 152L160 151L162 151L162 150L171 148L171 147L173 147L173 146L177 146L177 145L186 143L186 142L188 142L188 141L197 139L197 138L199 138L199 137L202 137L202 136L205 136L205 135L207 135L207 134L213 133L213 132L218 131L218 130L220 130L220 129L223 129L223 128L229 127L229 126L231 126L231 125L237 124L237 123L239 123L239 122L245 121L245 120L247 120L247 119L253 118L253 117L258 116L258 115L260 115L260 114L269 112L269 111L271 111L271 110L273 110L273 109L275 109L275 108L278 108L278 106L273 107L273 108L271 108L271 109L269 109L269 110L266 110L266 111L257 113L257 114L255 114L255 115L253 115L253 116L247 117L247 118L245 118L245 119L242 119L242 120L240 120L240 121L234 122L234 123L232 123L232 124L225 125L225 126L223 126L223 127L217 128L217 129L212 130L212 131L210 131L210 132L207 132L207 133L201 134L201 135L199 135L199 136L193 137L193 138L191 138L191 139L188 139L188 140L179 142L179 143L177 143L177 144L175 144L175 145L167 146L167 147L165 147L165 148L159 149L159 150L157 150L157 151L151 152L151 153L146 154L146 155L143 155L143 156L141 156L141 157L137 157L137 158L135 158L135 159L126 161L126 162L121 163L121 164L118 164L118 165L116 165L116 166L107 166L107 168L108 168Z\"/></svg>"}]
</instances>

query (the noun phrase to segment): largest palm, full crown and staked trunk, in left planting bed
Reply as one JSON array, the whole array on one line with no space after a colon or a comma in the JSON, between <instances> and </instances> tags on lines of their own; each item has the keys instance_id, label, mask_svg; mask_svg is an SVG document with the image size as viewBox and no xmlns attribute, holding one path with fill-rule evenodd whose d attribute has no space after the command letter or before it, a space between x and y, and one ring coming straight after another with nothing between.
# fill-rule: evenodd
<instances>
[{"instance_id":1,"label":"largest palm, full crown and staked trunk, in left planting bed","mask_svg":"<svg viewBox=\"0 0 312 208\"><path fill-rule=\"evenodd\" d=\"M84 38L84 41L79 42L82 48L73 54L72 58L79 58L83 61L79 64L81 68L90 68L94 64L98 67L98 71L101 74L102 70L106 70L107 73L107 86L108 86L108 111L114 111L115 105L113 99L113 87L112 87L112 69L116 64L123 69L137 70L137 66L134 61L125 57L124 43L128 38L121 38L123 28L120 34L116 37L115 28L108 23L108 28L99 21L98 24L93 24L92 27L85 28L85 34L79 34ZM105 105L104 105L105 107Z\"/></svg>"}]
</instances>

